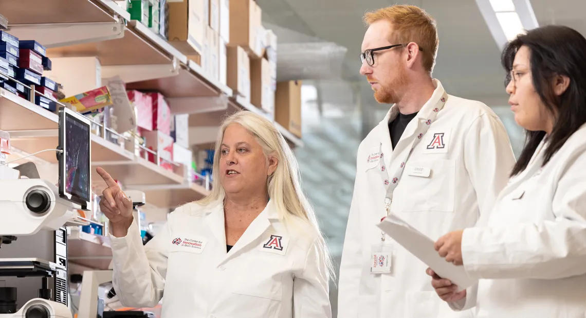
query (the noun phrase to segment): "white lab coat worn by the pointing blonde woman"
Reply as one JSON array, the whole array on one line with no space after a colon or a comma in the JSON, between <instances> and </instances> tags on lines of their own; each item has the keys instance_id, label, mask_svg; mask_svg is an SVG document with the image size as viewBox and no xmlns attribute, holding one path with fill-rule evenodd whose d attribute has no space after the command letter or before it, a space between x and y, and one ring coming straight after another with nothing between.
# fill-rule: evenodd
<instances>
[{"instance_id":1,"label":"white lab coat worn by the pointing blonde woman","mask_svg":"<svg viewBox=\"0 0 586 318\"><path fill-rule=\"evenodd\" d=\"M175 209L143 246L133 224L110 235L114 287L122 304L162 318L328 318L329 285L315 230L279 218L270 201L226 253L223 200Z\"/></svg>"}]
</instances>

